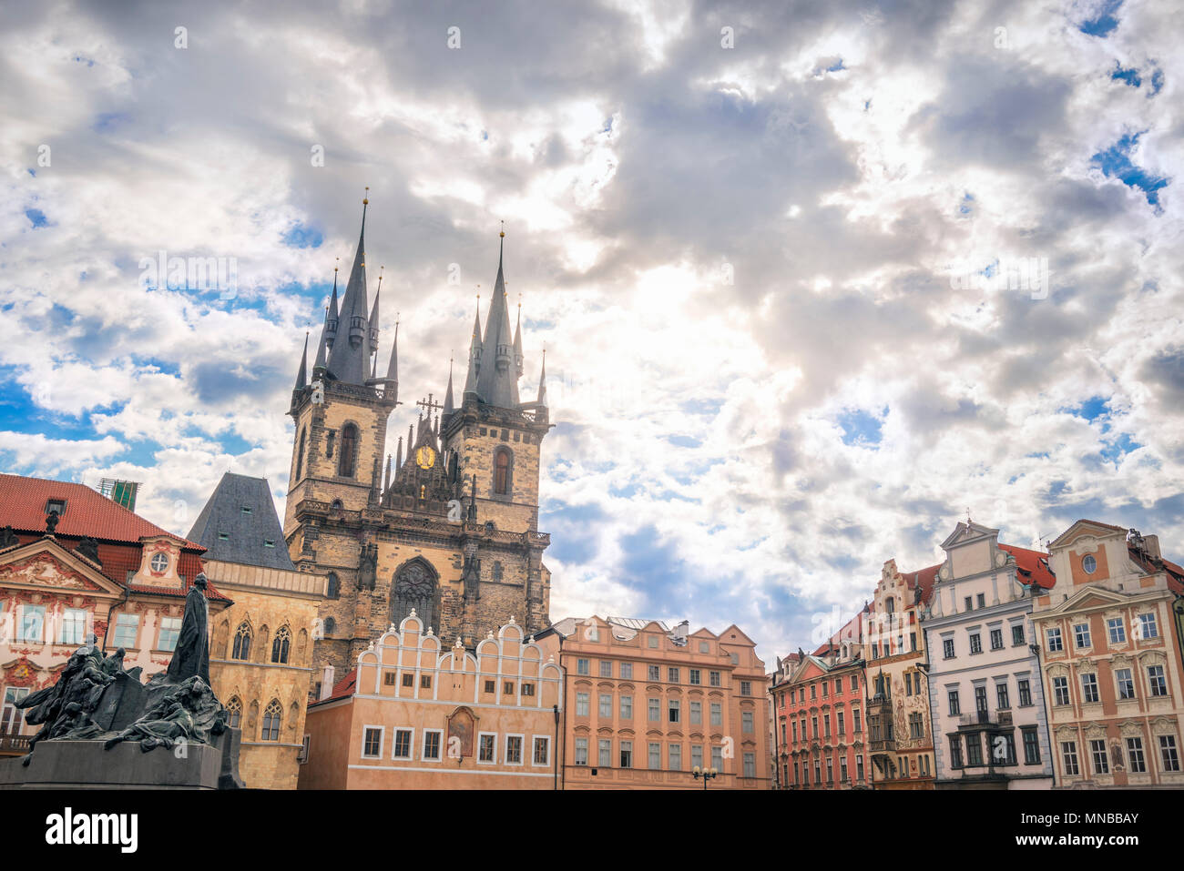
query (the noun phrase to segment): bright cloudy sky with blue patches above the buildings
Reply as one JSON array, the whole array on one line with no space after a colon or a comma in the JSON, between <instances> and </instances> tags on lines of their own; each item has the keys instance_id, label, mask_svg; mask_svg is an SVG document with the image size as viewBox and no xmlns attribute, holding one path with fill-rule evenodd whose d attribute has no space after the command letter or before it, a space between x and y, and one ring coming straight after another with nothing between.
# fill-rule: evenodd
<instances>
[{"instance_id":1,"label":"bright cloudy sky with blue patches above the buildings","mask_svg":"<svg viewBox=\"0 0 1184 871\"><path fill-rule=\"evenodd\" d=\"M735 622L772 665L967 509L1184 556L1184 7L207 6L0 6L4 471L141 480L178 533L227 470L282 510L369 186L394 433L506 221L555 619Z\"/></svg>"}]
</instances>

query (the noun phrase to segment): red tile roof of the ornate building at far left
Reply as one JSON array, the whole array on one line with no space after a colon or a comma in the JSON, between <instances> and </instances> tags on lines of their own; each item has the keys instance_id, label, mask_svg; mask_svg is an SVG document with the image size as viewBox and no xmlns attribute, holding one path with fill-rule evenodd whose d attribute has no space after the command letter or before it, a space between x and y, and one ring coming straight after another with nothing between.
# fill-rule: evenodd
<instances>
[{"instance_id":1,"label":"red tile roof of the ornate building at far left","mask_svg":"<svg viewBox=\"0 0 1184 871\"><path fill-rule=\"evenodd\" d=\"M146 521L85 484L20 475L0 475L0 527L12 527L21 533L45 533L45 505L50 499L66 502L66 510L58 518L58 535L128 543L139 543L143 536L172 535L188 548L204 549Z\"/></svg>"}]
</instances>

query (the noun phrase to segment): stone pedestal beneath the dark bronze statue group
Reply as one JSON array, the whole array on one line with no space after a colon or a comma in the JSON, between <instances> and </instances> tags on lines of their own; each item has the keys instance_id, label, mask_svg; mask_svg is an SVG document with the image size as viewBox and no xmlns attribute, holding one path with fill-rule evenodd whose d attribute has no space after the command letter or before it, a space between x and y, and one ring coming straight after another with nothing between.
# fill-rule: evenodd
<instances>
[{"instance_id":1,"label":"stone pedestal beneath the dark bronze statue group","mask_svg":"<svg viewBox=\"0 0 1184 871\"><path fill-rule=\"evenodd\" d=\"M229 729L214 744L148 753L131 741L103 749L103 741L39 741L27 767L0 760L0 789L233 789L240 733Z\"/></svg>"}]
</instances>

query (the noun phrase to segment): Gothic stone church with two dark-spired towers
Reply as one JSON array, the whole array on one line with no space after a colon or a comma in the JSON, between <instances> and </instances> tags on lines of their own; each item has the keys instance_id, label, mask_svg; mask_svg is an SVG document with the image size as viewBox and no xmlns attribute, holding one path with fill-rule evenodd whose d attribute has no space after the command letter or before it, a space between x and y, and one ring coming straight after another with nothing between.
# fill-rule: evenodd
<instances>
[{"instance_id":1,"label":"Gothic stone church with two dark-spired towers","mask_svg":"<svg viewBox=\"0 0 1184 871\"><path fill-rule=\"evenodd\" d=\"M501 256L484 331L480 311L475 318L461 401L449 372L444 402L416 402L418 424L392 460L398 333L379 375L381 282L372 304L365 226L363 208L345 295L335 279L311 378L305 347L289 411L283 533L296 567L328 578L313 678L326 689L412 611L469 649L510 618L527 633L551 622L549 536L538 528L546 372L536 400L520 401L522 338L520 325L511 335Z\"/></svg>"}]
</instances>

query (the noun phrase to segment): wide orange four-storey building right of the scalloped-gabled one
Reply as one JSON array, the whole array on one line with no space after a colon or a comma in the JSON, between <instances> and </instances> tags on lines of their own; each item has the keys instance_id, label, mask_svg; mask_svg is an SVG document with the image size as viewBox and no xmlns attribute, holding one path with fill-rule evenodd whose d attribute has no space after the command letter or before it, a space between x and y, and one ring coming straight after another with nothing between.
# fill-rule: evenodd
<instances>
[{"instance_id":1,"label":"wide orange four-storey building right of the scalloped-gabled one","mask_svg":"<svg viewBox=\"0 0 1184 871\"><path fill-rule=\"evenodd\" d=\"M767 676L735 626L568 618L539 633L567 676L565 789L771 787Z\"/></svg>"}]
</instances>

